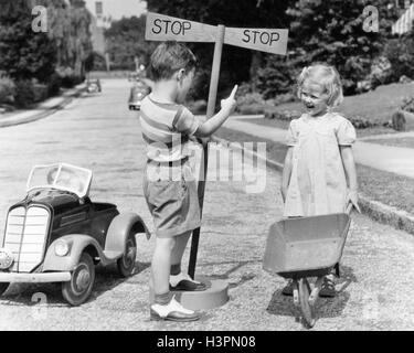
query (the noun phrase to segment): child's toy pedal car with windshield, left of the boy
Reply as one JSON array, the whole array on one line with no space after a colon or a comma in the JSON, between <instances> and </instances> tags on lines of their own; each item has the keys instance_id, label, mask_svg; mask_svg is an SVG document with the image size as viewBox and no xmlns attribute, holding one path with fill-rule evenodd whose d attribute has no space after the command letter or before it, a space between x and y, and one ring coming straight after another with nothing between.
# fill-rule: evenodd
<instances>
[{"instance_id":1,"label":"child's toy pedal car with windshield, left of the boy","mask_svg":"<svg viewBox=\"0 0 414 353\"><path fill-rule=\"evenodd\" d=\"M138 214L92 202L91 180L91 170L66 163L32 169L26 196L9 208L0 235L0 295L11 282L61 282L63 298L79 306L97 264L132 274L136 234L150 234Z\"/></svg>"}]
</instances>

